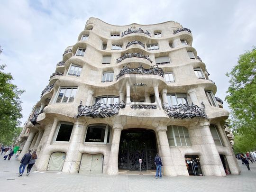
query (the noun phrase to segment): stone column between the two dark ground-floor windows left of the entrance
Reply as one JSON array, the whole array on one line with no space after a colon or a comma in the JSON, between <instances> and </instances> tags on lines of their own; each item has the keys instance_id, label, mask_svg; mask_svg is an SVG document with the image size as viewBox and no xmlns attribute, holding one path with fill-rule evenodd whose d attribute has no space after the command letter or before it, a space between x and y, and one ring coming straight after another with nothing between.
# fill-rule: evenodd
<instances>
[{"instance_id":1,"label":"stone column between the two dark ground-floor windows left of the entrance","mask_svg":"<svg viewBox=\"0 0 256 192\"><path fill-rule=\"evenodd\" d=\"M73 125L72 135L70 137L70 144L67 151L67 156L63 165L62 171L64 173L77 174L82 158L82 153L79 151L79 146L83 138L83 130L85 129L85 122L76 121Z\"/></svg>"}]
</instances>

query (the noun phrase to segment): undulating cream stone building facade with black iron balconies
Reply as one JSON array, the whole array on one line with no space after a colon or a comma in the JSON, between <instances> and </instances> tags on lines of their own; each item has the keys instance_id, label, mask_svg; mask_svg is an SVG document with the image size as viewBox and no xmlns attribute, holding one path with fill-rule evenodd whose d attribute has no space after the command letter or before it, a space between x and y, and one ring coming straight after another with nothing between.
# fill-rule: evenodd
<instances>
[{"instance_id":1,"label":"undulating cream stone building facade with black iron balconies","mask_svg":"<svg viewBox=\"0 0 256 192\"><path fill-rule=\"evenodd\" d=\"M65 49L18 142L37 170L177 175L240 174L225 126L229 112L192 47L168 21L115 26L89 18Z\"/></svg>"}]
</instances>

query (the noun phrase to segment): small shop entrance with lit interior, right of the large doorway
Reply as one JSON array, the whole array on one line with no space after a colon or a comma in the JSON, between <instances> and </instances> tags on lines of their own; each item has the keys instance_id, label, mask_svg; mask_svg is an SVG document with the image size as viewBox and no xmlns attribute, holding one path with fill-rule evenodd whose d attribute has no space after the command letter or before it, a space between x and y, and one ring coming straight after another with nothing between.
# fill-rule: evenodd
<instances>
[{"instance_id":1,"label":"small shop entrance with lit interior, right of the large doorway","mask_svg":"<svg viewBox=\"0 0 256 192\"><path fill-rule=\"evenodd\" d=\"M198 155L185 155L185 163L189 175L201 176L202 170Z\"/></svg>"}]
</instances>

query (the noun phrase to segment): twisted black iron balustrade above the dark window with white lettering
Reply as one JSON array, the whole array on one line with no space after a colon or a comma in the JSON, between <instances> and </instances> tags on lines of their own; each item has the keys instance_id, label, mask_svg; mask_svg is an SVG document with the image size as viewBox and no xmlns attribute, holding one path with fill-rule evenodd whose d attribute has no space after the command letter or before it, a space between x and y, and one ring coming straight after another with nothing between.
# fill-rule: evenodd
<instances>
[{"instance_id":1,"label":"twisted black iron balustrade above the dark window with white lettering","mask_svg":"<svg viewBox=\"0 0 256 192\"><path fill-rule=\"evenodd\" d=\"M96 103L92 106L82 106L82 101L78 106L77 118L86 116L92 118L106 118L111 117L119 112L119 109L125 108L125 101L120 101L119 103L106 105L103 103Z\"/></svg>"}]
</instances>

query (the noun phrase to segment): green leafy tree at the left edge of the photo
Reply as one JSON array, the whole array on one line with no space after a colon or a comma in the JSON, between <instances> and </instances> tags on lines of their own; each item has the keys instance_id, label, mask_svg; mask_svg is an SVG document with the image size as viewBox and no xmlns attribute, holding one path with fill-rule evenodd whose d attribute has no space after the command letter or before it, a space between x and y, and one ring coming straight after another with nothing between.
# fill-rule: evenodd
<instances>
[{"instance_id":1,"label":"green leafy tree at the left edge of the photo","mask_svg":"<svg viewBox=\"0 0 256 192\"><path fill-rule=\"evenodd\" d=\"M19 130L18 119L22 117L20 96L24 90L11 83L13 77L3 72L5 67L5 64L0 65L0 143L10 145Z\"/></svg>"}]
</instances>

